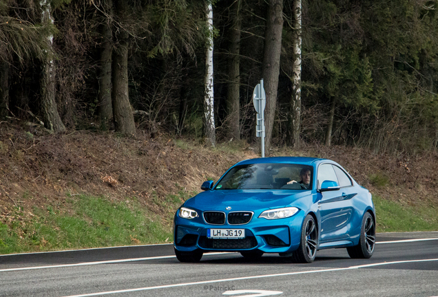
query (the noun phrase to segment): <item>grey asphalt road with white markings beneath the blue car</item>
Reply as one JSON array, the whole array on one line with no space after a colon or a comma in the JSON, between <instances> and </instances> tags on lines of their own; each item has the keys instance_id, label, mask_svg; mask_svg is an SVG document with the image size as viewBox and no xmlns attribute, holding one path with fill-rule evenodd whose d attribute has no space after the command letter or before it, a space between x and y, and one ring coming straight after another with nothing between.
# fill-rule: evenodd
<instances>
[{"instance_id":1,"label":"grey asphalt road with white markings beneath the blue car","mask_svg":"<svg viewBox=\"0 0 438 297\"><path fill-rule=\"evenodd\" d=\"M0 256L0 296L438 296L438 232L377 234L371 259L345 249L311 264L238 253L179 263L173 245Z\"/></svg>"}]
</instances>

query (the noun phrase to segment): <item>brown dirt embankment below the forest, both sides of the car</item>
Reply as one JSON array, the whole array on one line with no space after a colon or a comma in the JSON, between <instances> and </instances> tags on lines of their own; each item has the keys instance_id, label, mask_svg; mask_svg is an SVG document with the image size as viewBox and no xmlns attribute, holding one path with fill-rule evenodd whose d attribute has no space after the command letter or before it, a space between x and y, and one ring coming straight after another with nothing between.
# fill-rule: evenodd
<instances>
[{"instance_id":1,"label":"brown dirt embankment below the forest, both sides of the car","mask_svg":"<svg viewBox=\"0 0 438 297\"><path fill-rule=\"evenodd\" d=\"M62 208L66 193L112 200L134 196L160 213L164 210L151 202L152 194L164 199L181 190L198 191L202 181L217 180L232 164L258 157L249 146L209 149L165 135L156 139L91 131L44 135L5 123L0 128L0 221L15 206ZM376 155L343 146L281 149L271 155L326 157L342 164L374 195L408 205L438 202L437 155Z\"/></svg>"}]
</instances>

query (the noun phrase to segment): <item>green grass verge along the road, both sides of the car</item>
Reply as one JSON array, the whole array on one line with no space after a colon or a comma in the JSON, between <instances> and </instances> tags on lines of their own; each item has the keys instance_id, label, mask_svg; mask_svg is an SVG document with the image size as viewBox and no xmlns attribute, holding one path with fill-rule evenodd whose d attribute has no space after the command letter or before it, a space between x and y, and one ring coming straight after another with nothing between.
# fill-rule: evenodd
<instances>
[{"instance_id":1,"label":"green grass verge along the road, both sides of the car","mask_svg":"<svg viewBox=\"0 0 438 297\"><path fill-rule=\"evenodd\" d=\"M140 206L135 197L121 202L67 197L68 212L52 206L32 212L16 208L8 222L0 222L0 254L171 242L174 210L195 194L180 191L156 201L165 206L164 217ZM373 201L377 232L438 230L433 206L402 206L377 195Z\"/></svg>"}]
</instances>

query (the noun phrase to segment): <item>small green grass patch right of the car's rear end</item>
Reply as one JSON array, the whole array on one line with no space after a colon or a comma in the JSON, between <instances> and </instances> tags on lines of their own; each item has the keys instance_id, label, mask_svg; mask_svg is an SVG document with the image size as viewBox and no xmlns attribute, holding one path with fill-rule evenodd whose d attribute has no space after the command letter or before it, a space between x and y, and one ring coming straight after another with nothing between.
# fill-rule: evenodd
<instances>
[{"instance_id":1,"label":"small green grass patch right of the car's rear end","mask_svg":"<svg viewBox=\"0 0 438 297\"><path fill-rule=\"evenodd\" d=\"M403 206L373 196L377 214L377 232L408 232L438 230L437 209L434 206Z\"/></svg>"}]
</instances>

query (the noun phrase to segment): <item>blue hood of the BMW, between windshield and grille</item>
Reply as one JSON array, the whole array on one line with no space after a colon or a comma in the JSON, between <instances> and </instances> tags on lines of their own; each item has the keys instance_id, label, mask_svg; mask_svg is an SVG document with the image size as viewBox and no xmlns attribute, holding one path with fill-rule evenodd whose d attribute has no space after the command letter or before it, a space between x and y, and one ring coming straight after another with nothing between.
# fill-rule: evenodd
<instances>
[{"instance_id":1,"label":"blue hood of the BMW, between windshield and grille","mask_svg":"<svg viewBox=\"0 0 438 297\"><path fill-rule=\"evenodd\" d=\"M185 206L222 211L228 206L234 211L282 208L311 193L311 190L207 190L187 200Z\"/></svg>"}]
</instances>

